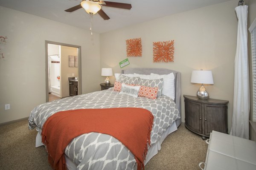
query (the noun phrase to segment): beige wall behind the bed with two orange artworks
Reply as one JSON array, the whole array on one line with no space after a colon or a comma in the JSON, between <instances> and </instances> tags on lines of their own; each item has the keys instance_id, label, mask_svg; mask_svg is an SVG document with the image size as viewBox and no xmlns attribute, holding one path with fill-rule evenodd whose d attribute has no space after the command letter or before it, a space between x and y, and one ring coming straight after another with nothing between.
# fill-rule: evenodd
<instances>
[{"instance_id":1,"label":"beige wall behind the bed with two orange artworks","mask_svg":"<svg viewBox=\"0 0 256 170\"><path fill-rule=\"evenodd\" d=\"M121 71L126 58L125 40L142 39L143 56L129 57L125 68L169 68L181 72L182 95L196 95L199 85L190 83L192 70L211 70L214 85L207 85L210 98L228 100L230 131L233 106L234 59L236 53L237 0L162 17L138 25L100 34L101 68ZM174 62L153 63L152 43L175 41ZM124 68L124 69L125 69ZM114 77L110 77L114 82ZM102 81L104 77L102 77ZM182 99L182 122L184 116Z\"/></svg>"}]
</instances>

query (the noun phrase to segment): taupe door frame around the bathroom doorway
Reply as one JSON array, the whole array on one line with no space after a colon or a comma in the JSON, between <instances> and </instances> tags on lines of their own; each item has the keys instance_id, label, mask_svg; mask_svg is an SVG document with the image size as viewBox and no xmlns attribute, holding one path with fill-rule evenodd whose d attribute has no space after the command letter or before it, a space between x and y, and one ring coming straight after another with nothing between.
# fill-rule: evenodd
<instances>
[{"instance_id":1,"label":"taupe door frame around the bathroom doorway","mask_svg":"<svg viewBox=\"0 0 256 170\"><path fill-rule=\"evenodd\" d=\"M49 102L49 83L48 83L48 44L62 45L67 47L78 48L78 94L82 94L82 62L81 62L81 46L65 44L61 42L54 42L45 40L45 91L46 91L46 102Z\"/></svg>"}]
</instances>

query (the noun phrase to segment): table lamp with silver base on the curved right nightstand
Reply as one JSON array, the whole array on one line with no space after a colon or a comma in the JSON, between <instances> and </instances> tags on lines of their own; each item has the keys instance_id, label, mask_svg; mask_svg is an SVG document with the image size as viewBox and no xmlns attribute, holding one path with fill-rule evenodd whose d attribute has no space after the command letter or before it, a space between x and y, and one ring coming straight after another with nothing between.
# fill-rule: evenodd
<instances>
[{"instance_id":1,"label":"table lamp with silver base on the curved right nightstand","mask_svg":"<svg viewBox=\"0 0 256 170\"><path fill-rule=\"evenodd\" d=\"M213 84L212 71L205 71L205 70L192 71L191 82L202 84L197 92L197 96L199 99L204 99L204 100L209 99L209 94L204 88L204 84Z\"/></svg>"}]
</instances>

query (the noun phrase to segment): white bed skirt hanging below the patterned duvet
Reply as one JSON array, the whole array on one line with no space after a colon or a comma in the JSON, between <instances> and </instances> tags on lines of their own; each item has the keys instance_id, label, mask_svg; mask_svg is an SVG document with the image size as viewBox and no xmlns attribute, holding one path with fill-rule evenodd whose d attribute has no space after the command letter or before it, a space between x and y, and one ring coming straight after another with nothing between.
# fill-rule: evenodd
<instances>
[{"instance_id":1,"label":"white bed skirt hanging below the patterned duvet","mask_svg":"<svg viewBox=\"0 0 256 170\"><path fill-rule=\"evenodd\" d=\"M160 139L157 141L157 143L154 143L153 145L150 146L150 148L148 149L148 153L146 156L146 160L144 162L144 164L146 165L148 163L148 161L155 156L159 150L161 150L161 144L163 143L163 140L166 139L166 137L174 132L175 130L177 130L177 127L179 127L180 122L174 122L171 126L169 126L166 131L161 135ZM36 139L35 139L35 147L39 147L44 145L42 143L42 136L40 135L40 133L37 133ZM70 160L66 155L65 155L65 159L66 159L66 165L68 170L76 170L77 165Z\"/></svg>"}]
</instances>

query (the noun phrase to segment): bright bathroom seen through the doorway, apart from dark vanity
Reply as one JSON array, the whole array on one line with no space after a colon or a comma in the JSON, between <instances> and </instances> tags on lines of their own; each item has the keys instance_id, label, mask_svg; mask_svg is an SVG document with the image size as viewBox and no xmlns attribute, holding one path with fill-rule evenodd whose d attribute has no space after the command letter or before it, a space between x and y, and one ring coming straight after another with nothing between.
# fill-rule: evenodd
<instances>
[{"instance_id":1,"label":"bright bathroom seen through the doorway, apart from dark vanity","mask_svg":"<svg viewBox=\"0 0 256 170\"><path fill-rule=\"evenodd\" d=\"M76 56L78 48L48 43L49 101L70 96L68 79L79 77L78 60L70 65L70 57Z\"/></svg>"}]
</instances>

